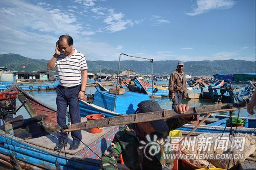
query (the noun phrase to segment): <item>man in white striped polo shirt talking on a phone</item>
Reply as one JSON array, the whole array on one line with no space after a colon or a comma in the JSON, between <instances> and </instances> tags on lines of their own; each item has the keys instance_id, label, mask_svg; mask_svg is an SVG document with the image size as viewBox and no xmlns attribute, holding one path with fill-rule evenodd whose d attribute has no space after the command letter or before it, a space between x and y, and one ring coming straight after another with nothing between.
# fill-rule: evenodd
<instances>
[{"instance_id":1,"label":"man in white striped polo shirt talking on a phone","mask_svg":"<svg viewBox=\"0 0 256 170\"><path fill-rule=\"evenodd\" d=\"M69 106L71 124L79 123L79 100L84 98L87 84L87 63L84 55L73 49L73 38L69 35L61 35L55 47L55 54L47 64L51 70L57 66L59 85L57 92L58 124L66 125L66 112ZM71 132L73 144L70 150L76 150L82 139L81 130ZM58 133L58 144L54 150L60 150L62 145L67 146L67 133Z\"/></svg>"}]
</instances>

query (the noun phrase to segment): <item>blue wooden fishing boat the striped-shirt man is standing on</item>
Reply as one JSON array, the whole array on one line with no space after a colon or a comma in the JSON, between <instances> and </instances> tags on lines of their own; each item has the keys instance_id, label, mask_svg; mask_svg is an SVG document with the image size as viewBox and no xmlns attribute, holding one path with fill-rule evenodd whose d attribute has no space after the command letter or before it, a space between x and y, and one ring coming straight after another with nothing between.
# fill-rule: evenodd
<instances>
[{"instance_id":1,"label":"blue wooden fishing boat the striped-shirt man is standing on","mask_svg":"<svg viewBox=\"0 0 256 170\"><path fill-rule=\"evenodd\" d=\"M11 88L18 91L18 87ZM20 95L19 100L26 101L26 97ZM1 163L16 169L100 169L101 154L113 140L119 126L105 127L102 133L97 134L82 130L85 145L81 144L77 150L63 148L58 152L53 150L58 138L52 129L56 124L57 110L35 101L35 98L28 98L24 106L31 118L0 126ZM71 139L68 146L70 144Z\"/></svg>"}]
</instances>

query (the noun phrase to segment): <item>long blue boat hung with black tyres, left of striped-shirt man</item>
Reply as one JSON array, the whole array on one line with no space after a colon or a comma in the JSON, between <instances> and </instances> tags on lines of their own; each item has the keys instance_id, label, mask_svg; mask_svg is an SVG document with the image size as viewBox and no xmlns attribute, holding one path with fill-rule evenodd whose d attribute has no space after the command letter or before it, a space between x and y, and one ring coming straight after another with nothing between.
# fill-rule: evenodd
<instances>
[{"instance_id":1,"label":"long blue boat hung with black tyres, left of striped-shirt man","mask_svg":"<svg viewBox=\"0 0 256 170\"><path fill-rule=\"evenodd\" d=\"M40 82L40 83L13 83L13 82L6 82L0 81L0 89L10 89L10 86L16 85L22 88L25 91L30 90L49 90L55 89L58 86L58 80L56 81L47 81L47 82Z\"/></svg>"}]
</instances>

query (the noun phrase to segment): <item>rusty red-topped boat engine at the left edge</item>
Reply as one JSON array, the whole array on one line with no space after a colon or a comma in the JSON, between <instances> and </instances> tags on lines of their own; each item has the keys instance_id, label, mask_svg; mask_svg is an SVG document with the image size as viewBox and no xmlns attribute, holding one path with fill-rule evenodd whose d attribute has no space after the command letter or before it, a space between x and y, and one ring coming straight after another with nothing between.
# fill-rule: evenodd
<instances>
[{"instance_id":1,"label":"rusty red-topped boat engine at the left edge","mask_svg":"<svg viewBox=\"0 0 256 170\"><path fill-rule=\"evenodd\" d=\"M16 115L16 98L19 92L13 92L11 90L3 90L0 92L0 118L7 122L13 119L13 115Z\"/></svg>"}]
</instances>

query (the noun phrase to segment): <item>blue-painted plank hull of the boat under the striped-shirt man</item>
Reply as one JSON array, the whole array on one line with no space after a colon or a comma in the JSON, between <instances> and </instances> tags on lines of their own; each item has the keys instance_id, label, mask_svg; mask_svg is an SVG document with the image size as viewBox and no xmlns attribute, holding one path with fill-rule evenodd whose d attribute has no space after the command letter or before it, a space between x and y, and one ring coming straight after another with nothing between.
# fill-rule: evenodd
<instances>
[{"instance_id":1,"label":"blue-painted plank hull of the boat under the striped-shirt man","mask_svg":"<svg viewBox=\"0 0 256 170\"><path fill-rule=\"evenodd\" d=\"M104 152L109 146L110 141L113 140L113 136L118 130L119 128L113 129L113 131L103 135L101 138L97 139L88 146L95 153L101 156L102 152ZM55 159L58 155L57 151L30 144L25 140L13 137L12 135L6 135L6 137L5 135L6 134L0 130L0 154L10 156L10 154L12 154L14 151L17 160L38 167L36 169L56 169ZM90 151L87 147L84 147L83 150L80 150L74 155L67 154L68 164L66 162L64 153L60 154L57 161L61 169L98 170L100 169L100 159L96 157L97 156L95 156L92 151Z\"/></svg>"}]
</instances>

